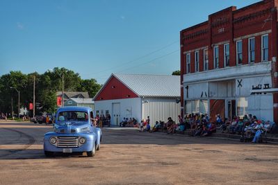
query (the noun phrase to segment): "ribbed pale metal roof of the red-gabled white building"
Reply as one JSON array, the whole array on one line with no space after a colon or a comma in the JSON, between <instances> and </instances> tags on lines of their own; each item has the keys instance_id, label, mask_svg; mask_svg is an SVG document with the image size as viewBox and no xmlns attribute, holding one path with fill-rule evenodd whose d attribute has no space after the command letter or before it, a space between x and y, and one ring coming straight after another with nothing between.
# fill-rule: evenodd
<instances>
[{"instance_id":1,"label":"ribbed pale metal roof of the red-gabled white building","mask_svg":"<svg viewBox=\"0 0 278 185\"><path fill-rule=\"evenodd\" d=\"M126 87L138 96L179 97L181 96L180 76L113 73ZM112 77L111 76L111 77Z\"/></svg>"}]
</instances>

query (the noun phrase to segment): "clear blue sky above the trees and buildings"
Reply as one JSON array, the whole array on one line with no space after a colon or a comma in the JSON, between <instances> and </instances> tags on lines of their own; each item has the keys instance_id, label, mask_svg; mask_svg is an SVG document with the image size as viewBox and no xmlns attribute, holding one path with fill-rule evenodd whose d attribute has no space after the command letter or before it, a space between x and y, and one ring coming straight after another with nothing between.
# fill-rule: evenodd
<instances>
[{"instance_id":1,"label":"clear blue sky above the trees and buildings","mask_svg":"<svg viewBox=\"0 0 278 185\"><path fill-rule=\"evenodd\" d=\"M256 0L0 0L0 76L72 69L104 83L111 73L171 74L179 31Z\"/></svg>"}]
</instances>

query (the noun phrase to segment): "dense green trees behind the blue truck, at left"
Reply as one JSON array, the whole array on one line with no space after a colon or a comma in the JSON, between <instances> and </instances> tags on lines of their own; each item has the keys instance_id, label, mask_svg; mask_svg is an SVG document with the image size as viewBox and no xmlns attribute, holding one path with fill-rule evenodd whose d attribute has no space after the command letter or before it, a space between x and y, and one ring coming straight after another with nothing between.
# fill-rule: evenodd
<instances>
[{"instance_id":1,"label":"dense green trees behind the blue truck, at left","mask_svg":"<svg viewBox=\"0 0 278 185\"><path fill-rule=\"evenodd\" d=\"M33 79L35 76L35 102L39 103L36 112L55 112L56 92L62 91L62 76L64 76L64 91L88 91L93 97L101 88L97 80L82 80L79 73L65 68L54 68L42 74L37 72L24 74L21 71L10 71L0 76L0 112L11 113L13 97L13 110L17 113L18 93L20 91L20 107L27 107L33 103Z\"/></svg>"}]
</instances>

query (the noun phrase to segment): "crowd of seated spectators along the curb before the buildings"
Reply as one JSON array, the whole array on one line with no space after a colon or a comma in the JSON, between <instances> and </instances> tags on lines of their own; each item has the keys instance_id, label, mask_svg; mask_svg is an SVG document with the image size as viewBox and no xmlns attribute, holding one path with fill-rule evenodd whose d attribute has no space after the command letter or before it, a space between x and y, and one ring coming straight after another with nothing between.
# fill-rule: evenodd
<instances>
[{"instance_id":1,"label":"crowd of seated spectators along the curb before the buildings","mask_svg":"<svg viewBox=\"0 0 278 185\"><path fill-rule=\"evenodd\" d=\"M178 123L175 123L171 117L167 118L167 122L156 121L155 125L150 128L149 116L147 121L141 121L139 125L133 123L134 127L140 127L140 132L157 132L158 130L167 130L167 134L174 134L177 131L188 130L190 136L210 136L215 133L216 130L220 130L222 133L228 134L240 134L240 141L252 141L257 143L262 138L261 135L275 125L274 122L261 121L256 116L251 114L243 116L235 116L233 119L222 119L220 114L215 115L215 119L212 119L208 114L189 114L184 119L179 115ZM146 125L146 129L143 127Z\"/></svg>"}]
</instances>

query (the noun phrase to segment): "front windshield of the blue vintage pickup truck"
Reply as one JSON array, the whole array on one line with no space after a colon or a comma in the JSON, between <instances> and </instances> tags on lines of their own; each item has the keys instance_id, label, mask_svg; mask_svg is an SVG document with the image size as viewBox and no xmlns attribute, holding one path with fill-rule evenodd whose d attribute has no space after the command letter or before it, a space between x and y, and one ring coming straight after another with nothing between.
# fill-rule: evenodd
<instances>
[{"instance_id":1,"label":"front windshield of the blue vintage pickup truck","mask_svg":"<svg viewBox=\"0 0 278 185\"><path fill-rule=\"evenodd\" d=\"M58 121L88 121L88 113L80 111L66 111L58 114Z\"/></svg>"}]
</instances>

